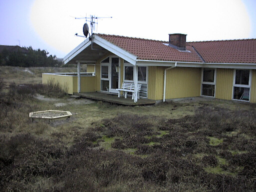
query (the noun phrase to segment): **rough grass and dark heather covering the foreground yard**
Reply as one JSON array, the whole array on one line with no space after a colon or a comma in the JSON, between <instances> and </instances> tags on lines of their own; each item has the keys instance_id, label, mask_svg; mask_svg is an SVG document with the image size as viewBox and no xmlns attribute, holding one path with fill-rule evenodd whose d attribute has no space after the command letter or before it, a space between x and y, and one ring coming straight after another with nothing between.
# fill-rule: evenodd
<instances>
[{"instance_id":1,"label":"rough grass and dark heather covering the foreground yard","mask_svg":"<svg viewBox=\"0 0 256 192\"><path fill-rule=\"evenodd\" d=\"M253 104L86 104L57 87L1 84L0 191L254 191ZM29 119L46 109L73 115Z\"/></svg>"}]
</instances>

